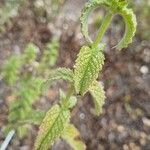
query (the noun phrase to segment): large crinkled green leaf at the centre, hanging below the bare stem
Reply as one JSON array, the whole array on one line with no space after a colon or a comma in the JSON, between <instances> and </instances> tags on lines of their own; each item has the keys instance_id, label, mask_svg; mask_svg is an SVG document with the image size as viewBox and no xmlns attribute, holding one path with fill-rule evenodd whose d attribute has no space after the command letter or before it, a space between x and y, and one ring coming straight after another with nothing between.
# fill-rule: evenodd
<instances>
[{"instance_id":1,"label":"large crinkled green leaf at the centre, hanging below the bare stem","mask_svg":"<svg viewBox=\"0 0 150 150\"><path fill-rule=\"evenodd\" d=\"M104 64L103 49L104 45L97 48L88 46L81 48L74 70L74 85L77 93L84 95L98 77Z\"/></svg>"}]
</instances>

